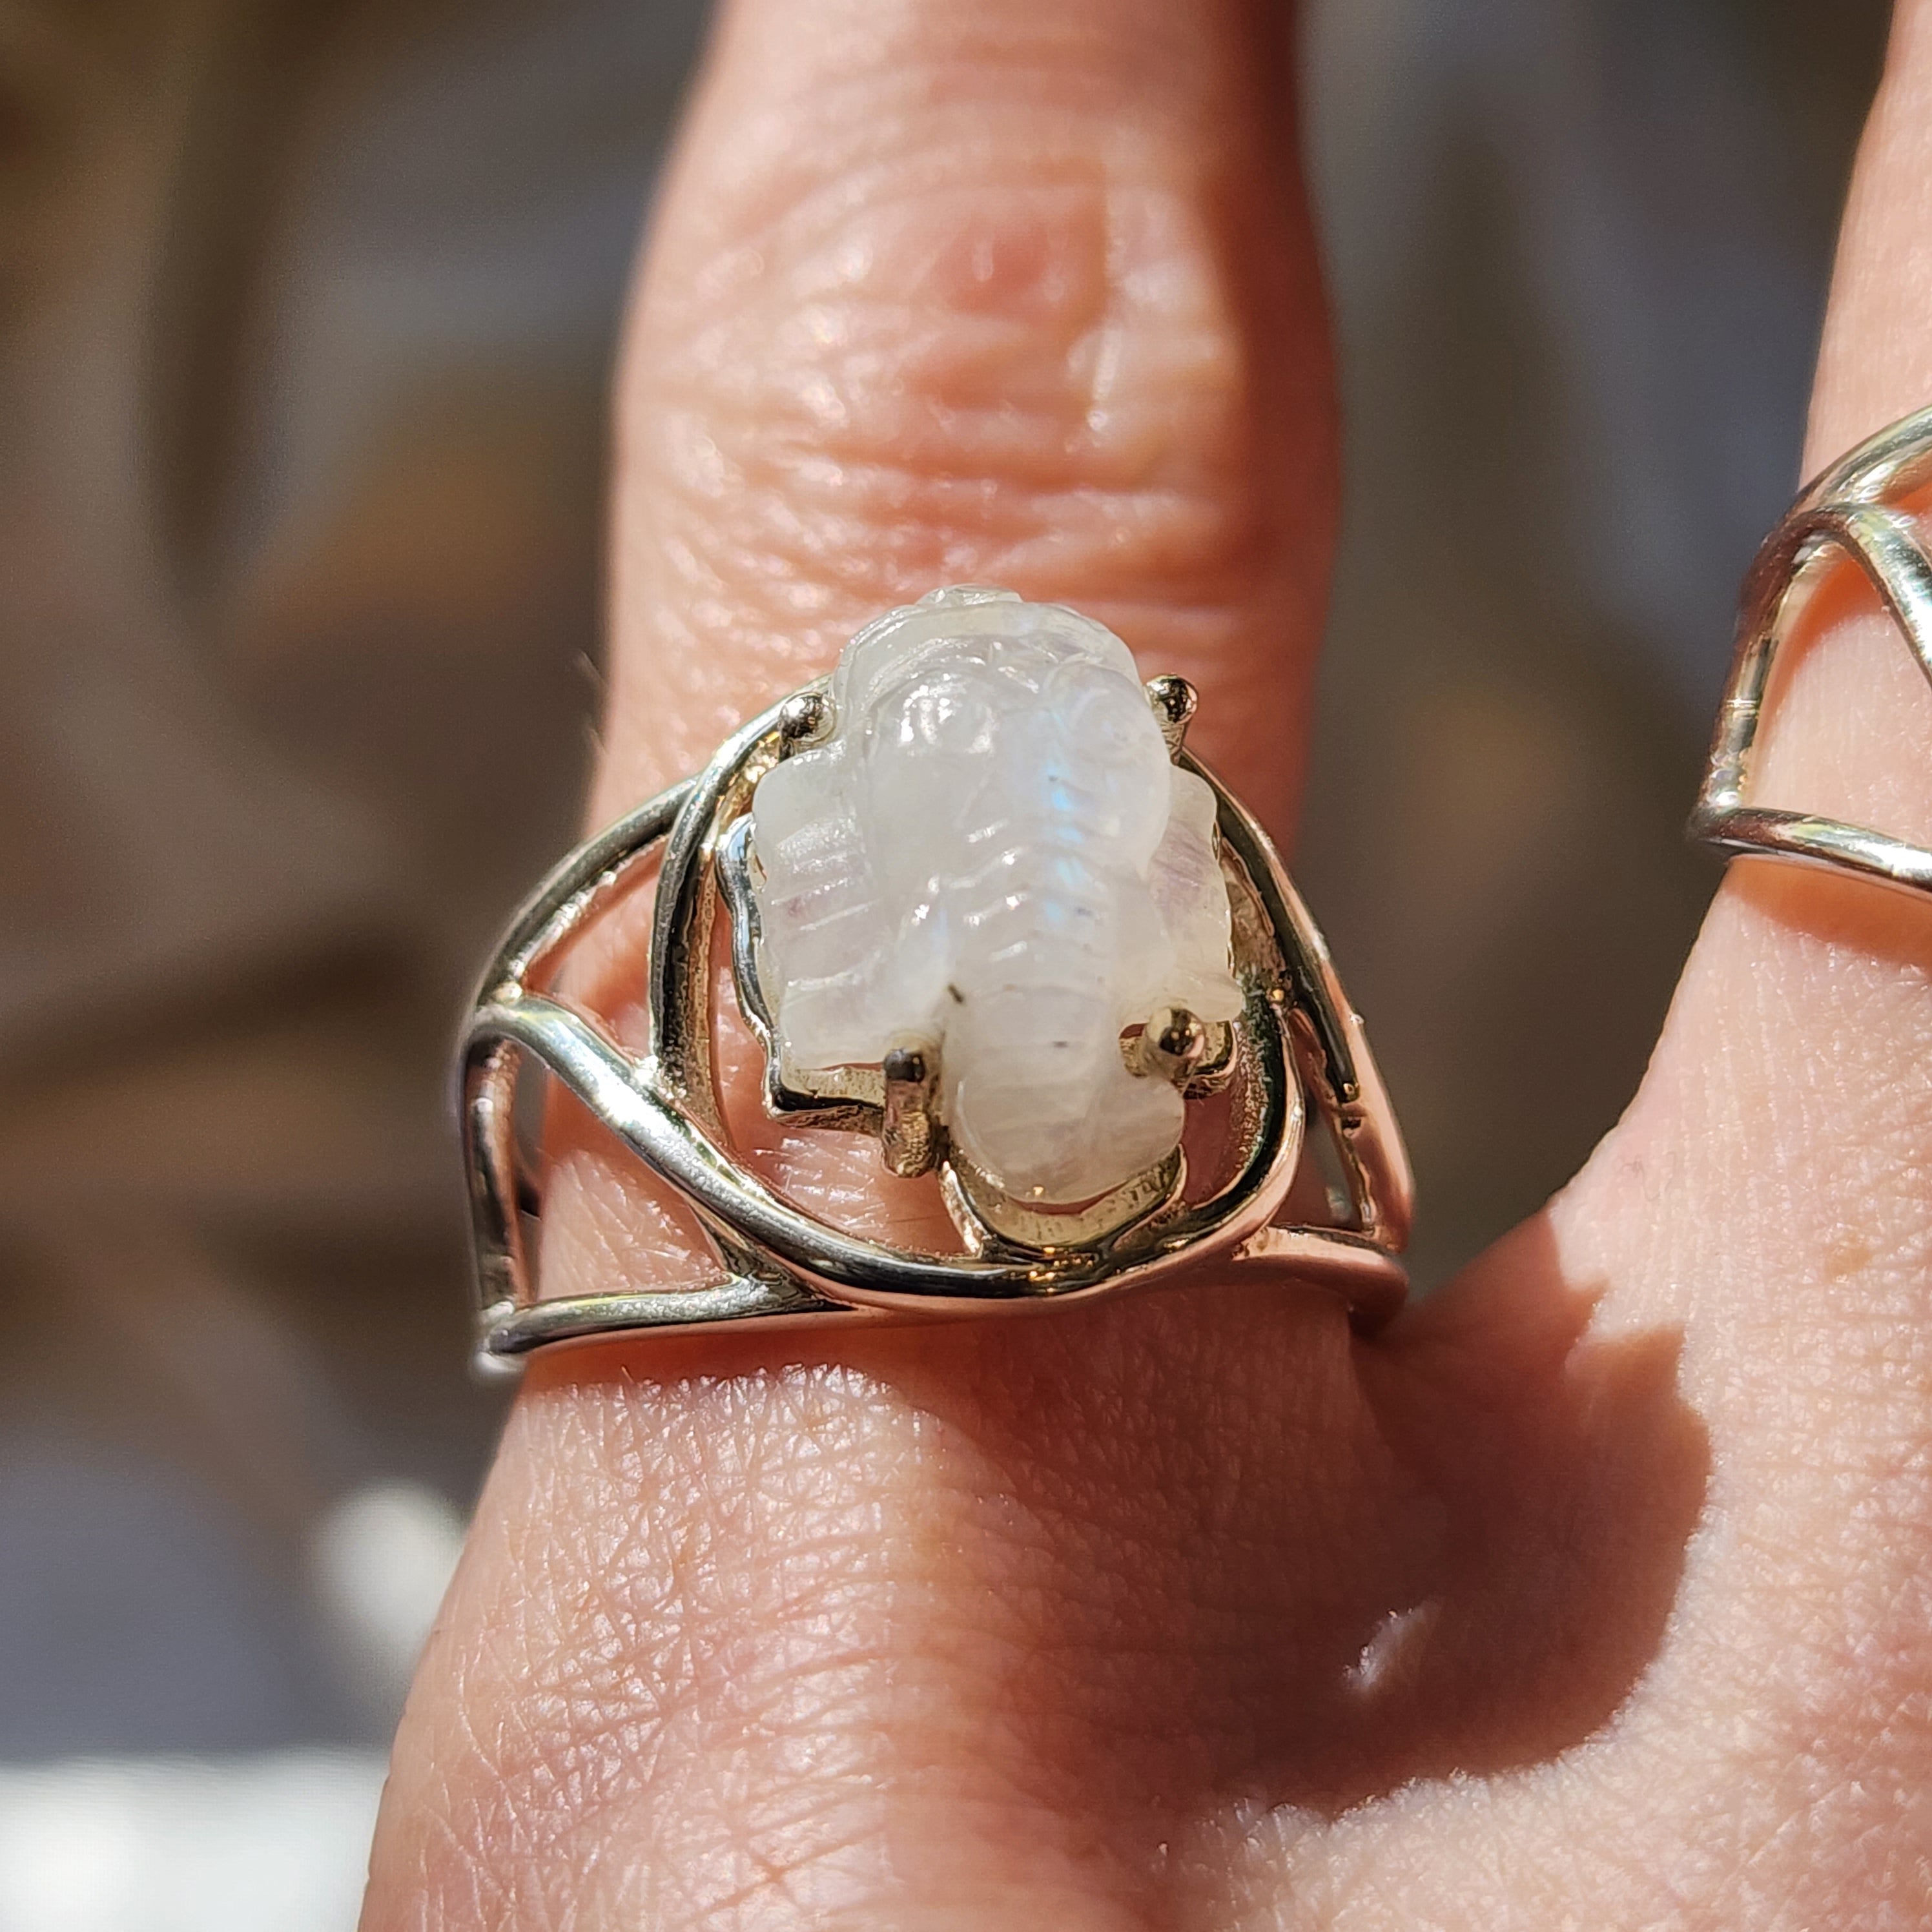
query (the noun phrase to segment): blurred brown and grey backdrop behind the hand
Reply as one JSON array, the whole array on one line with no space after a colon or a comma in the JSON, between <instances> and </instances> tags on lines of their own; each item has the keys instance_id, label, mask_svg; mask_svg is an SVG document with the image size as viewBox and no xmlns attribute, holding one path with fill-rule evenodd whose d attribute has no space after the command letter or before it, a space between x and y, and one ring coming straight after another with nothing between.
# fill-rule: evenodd
<instances>
[{"instance_id":1,"label":"blurred brown and grey backdrop behind the hand","mask_svg":"<svg viewBox=\"0 0 1932 1932\"><path fill-rule=\"evenodd\" d=\"M1300 883L1441 1279L1629 1097L1886 8L1316 0ZM572 837L694 0L0 6L0 1932L348 1932L498 1397L444 1049ZM1412 574L1362 533L1403 533Z\"/></svg>"}]
</instances>

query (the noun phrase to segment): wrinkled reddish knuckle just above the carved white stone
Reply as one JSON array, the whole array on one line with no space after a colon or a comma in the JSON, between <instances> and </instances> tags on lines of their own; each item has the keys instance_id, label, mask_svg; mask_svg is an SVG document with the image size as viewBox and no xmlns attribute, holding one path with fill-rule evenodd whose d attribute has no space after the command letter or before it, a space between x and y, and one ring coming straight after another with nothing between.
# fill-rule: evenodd
<instances>
[{"instance_id":1,"label":"wrinkled reddish knuckle just above the carved white stone","mask_svg":"<svg viewBox=\"0 0 1932 1932\"><path fill-rule=\"evenodd\" d=\"M1267 570L1254 317L1200 166L964 139L802 170L647 299L624 456L694 628L947 578L1225 605Z\"/></svg>"}]
</instances>

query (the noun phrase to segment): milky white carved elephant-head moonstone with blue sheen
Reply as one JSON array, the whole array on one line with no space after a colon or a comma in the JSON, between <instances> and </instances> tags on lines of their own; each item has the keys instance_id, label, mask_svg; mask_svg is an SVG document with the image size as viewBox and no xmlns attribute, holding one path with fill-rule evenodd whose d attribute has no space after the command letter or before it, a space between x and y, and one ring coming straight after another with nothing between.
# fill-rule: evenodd
<instances>
[{"instance_id":1,"label":"milky white carved elephant-head moonstone with blue sheen","mask_svg":"<svg viewBox=\"0 0 1932 1932\"><path fill-rule=\"evenodd\" d=\"M862 630L835 723L757 786L759 981L784 1065L939 1053L939 1115L1007 1194L1084 1202L1179 1142L1121 1032L1231 1020L1213 794L1179 771L1126 645L1012 591Z\"/></svg>"}]
</instances>

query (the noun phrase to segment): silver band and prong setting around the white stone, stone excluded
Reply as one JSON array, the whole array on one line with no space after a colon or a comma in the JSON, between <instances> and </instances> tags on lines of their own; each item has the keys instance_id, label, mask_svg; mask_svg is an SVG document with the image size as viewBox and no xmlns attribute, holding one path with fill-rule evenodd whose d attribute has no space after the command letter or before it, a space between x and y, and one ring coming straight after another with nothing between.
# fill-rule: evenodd
<instances>
[{"instance_id":1,"label":"silver band and prong setting around the white stone, stone excluded","mask_svg":"<svg viewBox=\"0 0 1932 1932\"><path fill-rule=\"evenodd\" d=\"M933 607L985 603L1009 611L1018 601L974 589L933 593L862 638ZM1099 630L1059 607L1018 609ZM1124 647L1109 641L1130 668ZM1095 1202L1039 1206L1005 1194L949 1136L923 1055L887 1053L815 1078L788 1065L761 980L752 804L769 773L823 738L831 690L833 680L821 678L773 705L701 773L574 850L516 914L485 972L458 1066L479 1366L512 1368L545 1345L643 1329L993 1316L1209 1273L1229 1285L1310 1283L1337 1293L1360 1327L1387 1320L1406 1293L1397 1256L1408 1236L1412 1188L1401 1132L1362 1020L1281 858L1246 808L1184 748L1194 694L1180 678L1155 678L1146 694L1165 755L1211 790L1209 837L1229 896L1225 966L1238 987L1238 1014L1217 1030L1190 1026L1188 1014L1169 1016L1169 1032L1153 1037L1150 1022L1138 1041L1126 1036L1121 1047L1132 1055L1132 1072L1165 1076L1180 1090L1190 1122L1217 1094L1229 1095L1221 1101L1231 1121L1223 1171L1184 1182L1177 1146ZM554 989L554 968L572 937L653 858L651 1051L636 1055L599 1016ZM765 1049L767 1111L815 1130L875 1138L891 1175L937 1173L958 1252L846 1233L786 1200L730 1146L713 1066L719 1016L711 1010L709 954L721 906L738 1020ZM690 1204L717 1258L711 1285L539 1294L529 1254L541 1198L531 1182L535 1161L518 1136L518 1088L535 1068L568 1088ZM1329 1223L1287 1219L1312 1122L1333 1146Z\"/></svg>"}]
</instances>

